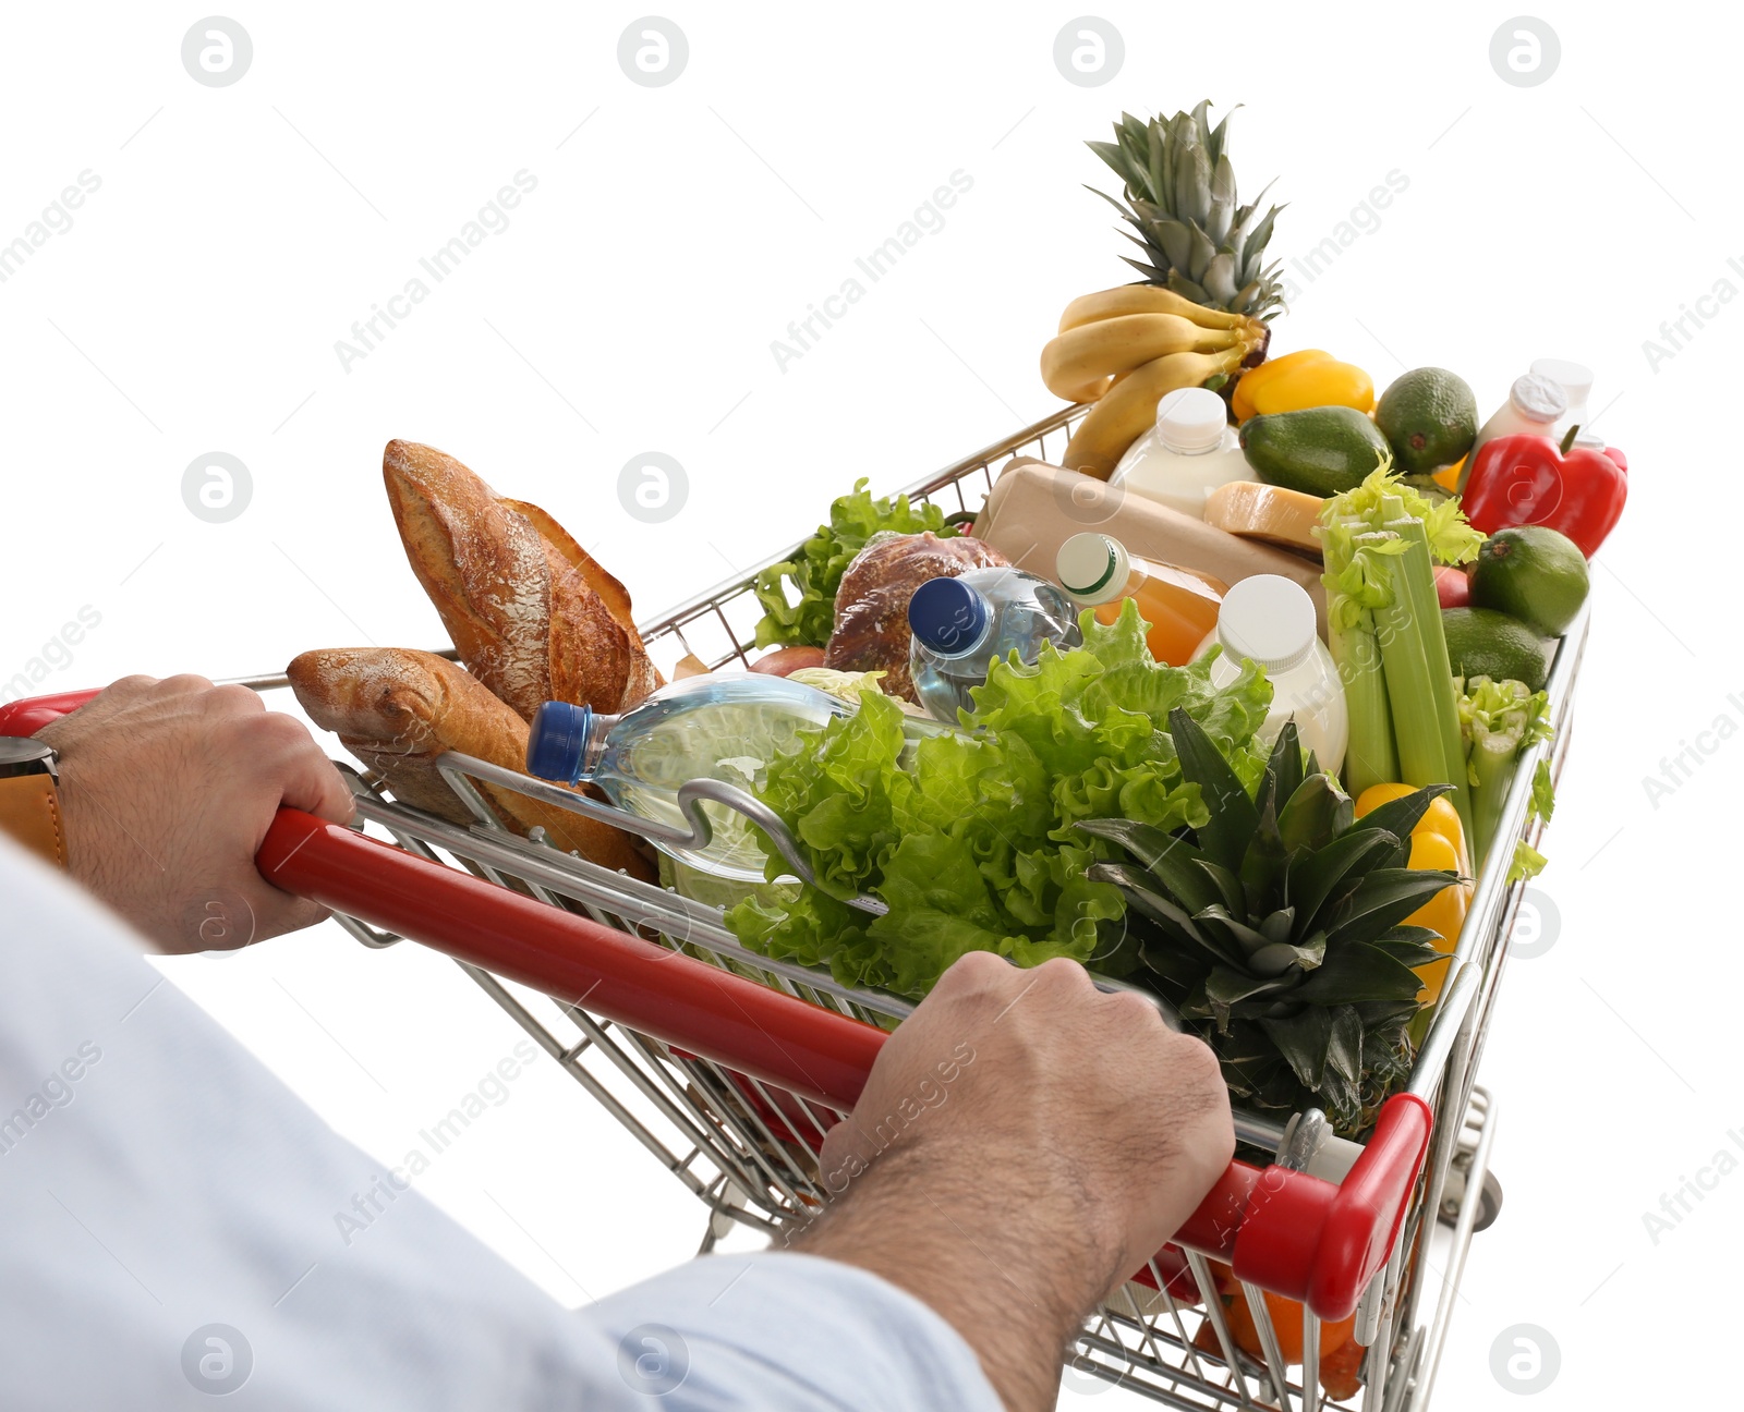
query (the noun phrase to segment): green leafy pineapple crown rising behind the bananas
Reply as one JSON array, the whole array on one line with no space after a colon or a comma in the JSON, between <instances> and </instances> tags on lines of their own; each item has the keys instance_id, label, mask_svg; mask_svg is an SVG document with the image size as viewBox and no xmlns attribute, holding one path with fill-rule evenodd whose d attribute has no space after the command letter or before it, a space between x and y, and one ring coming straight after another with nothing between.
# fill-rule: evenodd
<instances>
[{"instance_id":1,"label":"green leafy pineapple crown rising behind the bananas","mask_svg":"<svg viewBox=\"0 0 1744 1412\"><path fill-rule=\"evenodd\" d=\"M1263 261L1271 221L1282 207L1261 216L1259 202L1235 204L1235 167L1223 150L1230 119L1212 127L1207 108L1210 99L1191 113L1149 122L1121 113L1114 141L1088 146L1125 183L1127 200L1107 192L1097 195L1139 232L1123 234L1146 258L1125 260L1146 284L1167 286L1212 309L1270 319L1284 295L1280 267ZM1264 200L1264 192L1259 197Z\"/></svg>"}]
</instances>

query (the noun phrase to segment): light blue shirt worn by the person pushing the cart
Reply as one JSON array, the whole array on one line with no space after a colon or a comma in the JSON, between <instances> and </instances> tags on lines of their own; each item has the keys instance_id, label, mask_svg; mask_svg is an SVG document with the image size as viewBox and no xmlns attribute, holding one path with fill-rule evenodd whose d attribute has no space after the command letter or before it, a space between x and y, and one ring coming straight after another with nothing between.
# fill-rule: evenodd
<instances>
[{"instance_id":1,"label":"light blue shirt worn by the person pushing the cart","mask_svg":"<svg viewBox=\"0 0 1744 1412\"><path fill-rule=\"evenodd\" d=\"M717 1255L570 1313L415 1191L335 1255L359 1161L0 840L0 1407L999 1412L937 1313L834 1260Z\"/></svg>"}]
</instances>

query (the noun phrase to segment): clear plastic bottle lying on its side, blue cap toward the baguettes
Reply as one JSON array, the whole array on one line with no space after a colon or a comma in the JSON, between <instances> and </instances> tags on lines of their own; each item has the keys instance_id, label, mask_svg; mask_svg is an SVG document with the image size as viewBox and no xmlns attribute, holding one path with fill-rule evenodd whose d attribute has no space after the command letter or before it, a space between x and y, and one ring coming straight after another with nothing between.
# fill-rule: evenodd
<instances>
[{"instance_id":1,"label":"clear plastic bottle lying on its side, blue cap toward the baguettes","mask_svg":"<svg viewBox=\"0 0 1744 1412\"><path fill-rule=\"evenodd\" d=\"M755 793L769 762L792 748L800 730L853 713L839 697L785 676L691 676L661 687L617 716L589 706L548 701L527 736L527 772L563 784L595 784L631 814L689 828L678 788L720 779ZM762 882L764 851L743 814L705 800L713 825L705 849L656 844L663 852L715 877Z\"/></svg>"}]
</instances>

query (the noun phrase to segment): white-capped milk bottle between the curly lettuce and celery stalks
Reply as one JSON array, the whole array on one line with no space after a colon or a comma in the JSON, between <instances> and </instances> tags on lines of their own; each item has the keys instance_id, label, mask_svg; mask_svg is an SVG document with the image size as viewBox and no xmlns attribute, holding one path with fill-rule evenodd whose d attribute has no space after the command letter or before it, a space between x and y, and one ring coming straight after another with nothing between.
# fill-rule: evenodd
<instances>
[{"instance_id":1,"label":"white-capped milk bottle between the curly lettuce and celery stalks","mask_svg":"<svg viewBox=\"0 0 1744 1412\"><path fill-rule=\"evenodd\" d=\"M1252 661L1271 682L1271 709L1256 737L1270 746L1284 722L1296 722L1303 746L1320 760L1320 769L1338 774L1350 744L1345 687L1332 654L1315 631L1313 600L1294 579L1256 574L1242 579L1217 610L1217 628L1200 645L1200 655L1221 647L1210 664L1214 687L1228 687Z\"/></svg>"}]
</instances>

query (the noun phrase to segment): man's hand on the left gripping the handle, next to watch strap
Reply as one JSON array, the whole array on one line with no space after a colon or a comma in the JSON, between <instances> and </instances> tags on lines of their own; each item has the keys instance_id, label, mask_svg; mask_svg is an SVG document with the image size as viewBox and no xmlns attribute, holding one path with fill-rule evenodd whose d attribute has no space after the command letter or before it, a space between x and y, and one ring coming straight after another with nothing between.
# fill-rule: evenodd
<instances>
[{"instance_id":1,"label":"man's hand on the left gripping the handle, next to watch strap","mask_svg":"<svg viewBox=\"0 0 1744 1412\"><path fill-rule=\"evenodd\" d=\"M349 823L351 791L248 687L126 676L37 739L61 757L68 870L159 950L246 947L326 915L267 882L255 851L281 804Z\"/></svg>"}]
</instances>

